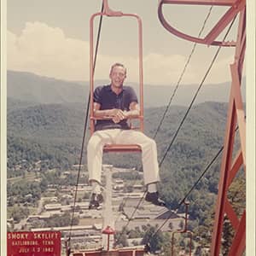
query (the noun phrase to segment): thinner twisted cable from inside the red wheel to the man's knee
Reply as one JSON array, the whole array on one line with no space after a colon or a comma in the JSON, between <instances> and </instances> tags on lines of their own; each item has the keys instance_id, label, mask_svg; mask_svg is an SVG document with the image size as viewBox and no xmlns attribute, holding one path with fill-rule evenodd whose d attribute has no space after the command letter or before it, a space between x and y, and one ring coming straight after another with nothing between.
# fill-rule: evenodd
<instances>
[{"instance_id":1,"label":"thinner twisted cable from inside the red wheel to the man's knee","mask_svg":"<svg viewBox=\"0 0 256 256\"><path fill-rule=\"evenodd\" d=\"M204 28L205 28L205 26L206 26L206 24L207 24L207 20L209 19L209 16L211 15L212 8L213 8L213 5L211 6L211 8L210 8L209 11L208 11L207 17L206 17L206 19L204 20L203 26L201 27L201 30L200 30L200 32L199 32L199 34L198 34L198 38L201 37L201 33L203 32L203 30L204 30ZM166 117L166 113L167 113L167 111L168 111L169 108L170 108L172 99L173 99L173 97L174 97L175 94L176 94L177 88L178 88L178 86L179 86L181 80L183 79L183 75L184 75L184 73L185 73L185 71L186 71L186 69L187 69L187 67L188 67L188 65L189 65L189 62L190 62L190 60L191 60L192 55L193 55L194 52L195 52L195 46L196 46L196 45L197 45L197 43L195 43L195 44L193 45L193 47L192 47L192 50L191 50L191 52L190 52L190 54L189 54L189 57L188 57L188 60L186 61L185 66L183 67L183 71L182 71L182 73L181 73L179 79L177 80L176 87L175 87L175 89L173 90L172 96L170 97L170 100L169 100L169 102L168 102L168 104L167 104L167 106L166 106L166 109L165 109L165 111L164 111L164 113L163 113L163 116L162 116L162 118L160 119L160 124L158 125L158 127L157 127L157 129L156 129L156 131L155 131L155 133L154 133L154 137L153 137L153 138L155 138L156 135L157 135L157 133L160 131L160 126L162 125L162 123L163 123L163 121L164 121L164 119L165 119L165 117Z\"/></svg>"}]
</instances>

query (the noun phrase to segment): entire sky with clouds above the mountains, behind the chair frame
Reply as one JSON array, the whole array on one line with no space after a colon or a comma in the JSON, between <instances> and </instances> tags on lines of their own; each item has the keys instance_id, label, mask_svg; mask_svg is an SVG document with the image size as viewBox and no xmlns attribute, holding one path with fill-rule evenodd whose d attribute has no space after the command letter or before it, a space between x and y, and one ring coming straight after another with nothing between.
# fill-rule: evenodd
<instances>
[{"instance_id":1,"label":"entire sky with clouds above the mountains, behind the chair frame","mask_svg":"<svg viewBox=\"0 0 256 256\"><path fill-rule=\"evenodd\" d=\"M109 7L139 15L143 20L144 84L176 85L194 43L177 38L160 24L157 0L108 0ZM102 9L102 0L8 0L7 67L55 79L89 80L89 20ZM165 5L166 19L181 32L196 36L210 6ZM213 7L203 35L224 14ZM189 17L189 19L188 19ZM95 21L95 37L99 19ZM235 22L229 40L236 40ZM224 33L218 39L222 39ZM138 82L137 21L103 17L95 79L108 79L109 67L122 62L128 82ZM197 44L182 84L200 84L218 47ZM206 84L230 81L234 48L221 49Z\"/></svg>"}]
</instances>

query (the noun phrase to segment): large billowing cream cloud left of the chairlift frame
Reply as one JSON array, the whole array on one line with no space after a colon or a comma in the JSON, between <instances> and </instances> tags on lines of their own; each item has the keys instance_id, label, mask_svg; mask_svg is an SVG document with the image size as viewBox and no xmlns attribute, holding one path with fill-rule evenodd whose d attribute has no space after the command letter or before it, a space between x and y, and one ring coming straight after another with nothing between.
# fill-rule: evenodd
<instances>
[{"instance_id":1,"label":"large billowing cream cloud left of the chairlift frame","mask_svg":"<svg viewBox=\"0 0 256 256\"><path fill-rule=\"evenodd\" d=\"M57 79L87 79L89 45L60 28L26 23L20 37L8 32L7 66Z\"/></svg>"}]
</instances>

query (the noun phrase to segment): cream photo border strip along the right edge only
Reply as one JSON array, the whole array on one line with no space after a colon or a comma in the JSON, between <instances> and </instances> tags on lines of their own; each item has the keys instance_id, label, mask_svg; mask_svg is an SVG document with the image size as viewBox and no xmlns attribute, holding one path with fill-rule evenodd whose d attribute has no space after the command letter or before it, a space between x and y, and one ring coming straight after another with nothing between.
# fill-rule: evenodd
<instances>
[{"instance_id":1,"label":"cream photo border strip along the right edge only","mask_svg":"<svg viewBox=\"0 0 256 256\"><path fill-rule=\"evenodd\" d=\"M255 1L247 0L247 49L246 49L246 252L256 255L255 249Z\"/></svg>"}]
</instances>

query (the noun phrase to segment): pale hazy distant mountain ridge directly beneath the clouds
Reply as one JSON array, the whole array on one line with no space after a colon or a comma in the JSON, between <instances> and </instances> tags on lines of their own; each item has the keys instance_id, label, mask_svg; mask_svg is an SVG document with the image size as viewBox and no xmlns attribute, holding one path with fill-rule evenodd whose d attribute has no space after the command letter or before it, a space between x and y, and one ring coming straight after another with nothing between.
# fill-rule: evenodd
<instances>
[{"instance_id":1,"label":"pale hazy distant mountain ridge directly beneath the clouds","mask_svg":"<svg viewBox=\"0 0 256 256\"><path fill-rule=\"evenodd\" d=\"M108 84L108 80L95 81L95 84ZM199 81L199 84L201 81ZM199 84L180 84L172 104L189 106ZM243 83L245 84L245 79ZM138 91L137 84L131 84ZM144 84L144 108L166 106L172 96L176 84L149 85ZM23 104L50 104L68 102L87 102L89 82L64 81L60 79L38 76L33 73L8 71L8 97L23 102ZM203 84L196 97L195 104L201 102L228 102L230 82L223 84ZM242 86L242 96L245 102L245 86ZM25 103L26 102L26 103ZM20 105L20 104L19 104Z\"/></svg>"}]
</instances>

